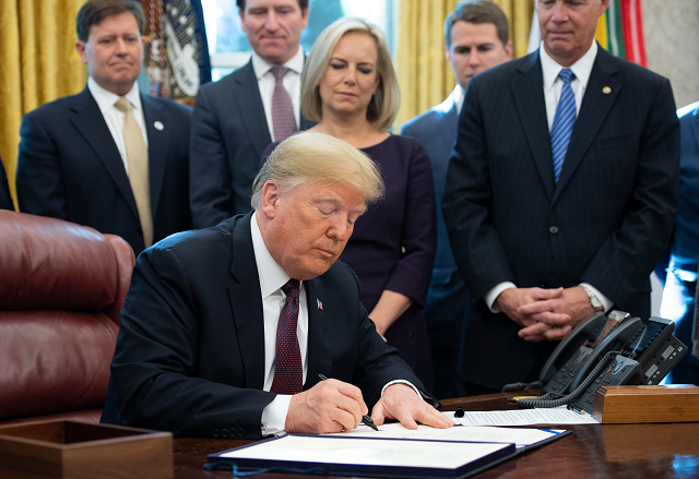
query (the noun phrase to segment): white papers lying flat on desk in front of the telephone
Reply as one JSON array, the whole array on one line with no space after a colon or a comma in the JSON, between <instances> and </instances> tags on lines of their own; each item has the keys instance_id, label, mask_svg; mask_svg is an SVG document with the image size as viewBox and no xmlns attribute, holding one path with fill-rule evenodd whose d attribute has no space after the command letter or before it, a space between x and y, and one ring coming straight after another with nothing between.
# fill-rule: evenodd
<instances>
[{"instance_id":1,"label":"white papers lying flat on desk in front of the telephone","mask_svg":"<svg viewBox=\"0 0 699 479\"><path fill-rule=\"evenodd\" d=\"M550 409L516 409L507 411L465 411L455 418L453 411L442 412L463 426L546 426L546 424L599 424L588 412L580 414L566 406Z\"/></svg>"}]
</instances>

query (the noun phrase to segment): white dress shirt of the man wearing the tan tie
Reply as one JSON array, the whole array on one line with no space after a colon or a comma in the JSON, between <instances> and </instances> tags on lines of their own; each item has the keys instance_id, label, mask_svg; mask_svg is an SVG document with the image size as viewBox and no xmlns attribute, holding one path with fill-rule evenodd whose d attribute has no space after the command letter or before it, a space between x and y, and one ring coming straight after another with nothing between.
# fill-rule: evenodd
<instances>
[{"instance_id":1,"label":"white dress shirt of the man wearing the tan tie","mask_svg":"<svg viewBox=\"0 0 699 479\"><path fill-rule=\"evenodd\" d=\"M126 169L127 175L129 175L127 145L123 141L123 111L115 106L120 96L115 93L108 92L99 86L97 82L92 79L92 76L87 79L87 88L90 89L93 98L95 98L95 101L97 101L97 107L99 107L99 111L102 111L102 116L105 118L105 122L107 123L107 128L109 129L109 133L111 133L111 137L114 139L115 144L117 145L119 155L121 155L123 168ZM131 88L131 91L127 93L125 97L131 104L133 118L135 118L135 122L139 123L139 127L141 128L143 141L145 141L145 146L147 147L149 135L145 129L145 118L143 117L141 94L139 93L139 84L137 82L133 83L133 88Z\"/></svg>"}]
</instances>

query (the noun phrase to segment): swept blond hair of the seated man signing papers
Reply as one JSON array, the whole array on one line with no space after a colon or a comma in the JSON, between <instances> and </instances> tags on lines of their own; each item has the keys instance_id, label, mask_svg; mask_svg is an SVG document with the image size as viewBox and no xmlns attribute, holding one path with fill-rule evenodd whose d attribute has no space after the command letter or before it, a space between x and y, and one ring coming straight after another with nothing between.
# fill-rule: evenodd
<instances>
[{"instance_id":1,"label":"swept blond hair of the seated man signing papers","mask_svg":"<svg viewBox=\"0 0 699 479\"><path fill-rule=\"evenodd\" d=\"M364 195L365 204L383 197L384 187L377 165L359 149L334 136L303 132L280 143L252 182L250 204L262 203L262 188L274 181L282 191L303 182L344 183Z\"/></svg>"}]
</instances>

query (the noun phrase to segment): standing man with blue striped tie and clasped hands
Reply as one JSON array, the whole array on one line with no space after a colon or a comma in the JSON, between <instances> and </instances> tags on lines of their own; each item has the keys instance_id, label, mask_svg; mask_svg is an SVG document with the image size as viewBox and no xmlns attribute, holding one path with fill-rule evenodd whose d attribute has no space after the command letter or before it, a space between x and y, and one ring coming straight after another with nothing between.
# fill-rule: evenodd
<instances>
[{"instance_id":1,"label":"standing man with blue striped tie and clasped hands","mask_svg":"<svg viewBox=\"0 0 699 479\"><path fill-rule=\"evenodd\" d=\"M594 41L607 7L537 1L538 51L469 83L442 208L475 301L461 364L472 394L538 379L595 311L650 315L679 123L666 79Z\"/></svg>"}]
</instances>

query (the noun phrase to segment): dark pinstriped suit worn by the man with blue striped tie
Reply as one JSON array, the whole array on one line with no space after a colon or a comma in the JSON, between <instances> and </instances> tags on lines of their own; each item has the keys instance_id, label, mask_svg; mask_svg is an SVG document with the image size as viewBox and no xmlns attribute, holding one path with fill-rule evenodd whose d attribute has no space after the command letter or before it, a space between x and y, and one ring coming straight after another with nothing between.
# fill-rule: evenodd
<instances>
[{"instance_id":1,"label":"dark pinstriped suit worn by the man with blue striped tie","mask_svg":"<svg viewBox=\"0 0 699 479\"><path fill-rule=\"evenodd\" d=\"M558 184L538 52L471 80L442 202L457 264L477 301L463 376L500 387L537 374L540 351L550 350L490 313L482 298L501 282L585 282L617 309L648 318L649 274L675 220L678 167L670 82L601 47Z\"/></svg>"}]
</instances>

